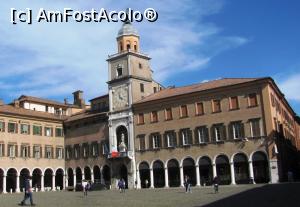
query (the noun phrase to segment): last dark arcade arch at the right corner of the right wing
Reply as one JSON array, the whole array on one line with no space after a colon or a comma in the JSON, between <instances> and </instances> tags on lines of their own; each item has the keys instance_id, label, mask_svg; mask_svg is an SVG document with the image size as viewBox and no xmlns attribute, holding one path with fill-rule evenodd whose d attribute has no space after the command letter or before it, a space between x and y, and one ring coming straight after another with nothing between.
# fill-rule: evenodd
<instances>
[{"instance_id":1,"label":"last dark arcade arch at the right corner of the right wing","mask_svg":"<svg viewBox=\"0 0 300 207\"><path fill-rule=\"evenodd\" d=\"M255 152L252 156L255 183L268 183L269 167L268 158L263 152Z\"/></svg>"}]
</instances>

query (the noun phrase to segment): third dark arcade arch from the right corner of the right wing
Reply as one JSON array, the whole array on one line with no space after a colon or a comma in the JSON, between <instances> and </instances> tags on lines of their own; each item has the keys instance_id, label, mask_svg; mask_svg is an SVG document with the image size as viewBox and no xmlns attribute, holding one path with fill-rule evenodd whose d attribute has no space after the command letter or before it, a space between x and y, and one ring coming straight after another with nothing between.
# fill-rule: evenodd
<instances>
[{"instance_id":1,"label":"third dark arcade arch from the right corner of the right wing","mask_svg":"<svg viewBox=\"0 0 300 207\"><path fill-rule=\"evenodd\" d=\"M219 155L216 159L217 175L220 185L229 185L231 183L229 160L225 155Z\"/></svg>"}]
</instances>

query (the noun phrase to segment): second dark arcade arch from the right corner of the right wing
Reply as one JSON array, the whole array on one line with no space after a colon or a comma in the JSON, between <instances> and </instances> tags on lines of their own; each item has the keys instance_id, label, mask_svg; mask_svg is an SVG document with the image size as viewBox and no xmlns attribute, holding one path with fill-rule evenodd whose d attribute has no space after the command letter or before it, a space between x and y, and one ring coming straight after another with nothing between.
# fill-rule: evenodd
<instances>
[{"instance_id":1,"label":"second dark arcade arch from the right corner of the right wing","mask_svg":"<svg viewBox=\"0 0 300 207\"><path fill-rule=\"evenodd\" d=\"M247 156L238 153L233 158L234 177L236 184L248 184L249 179L249 164Z\"/></svg>"}]
</instances>

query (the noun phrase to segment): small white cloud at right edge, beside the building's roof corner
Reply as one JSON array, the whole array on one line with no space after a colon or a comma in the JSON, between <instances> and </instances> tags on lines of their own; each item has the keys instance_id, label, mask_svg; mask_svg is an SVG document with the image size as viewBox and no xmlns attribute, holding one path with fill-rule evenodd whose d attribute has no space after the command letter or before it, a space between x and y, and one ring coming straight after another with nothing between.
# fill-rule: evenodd
<instances>
[{"instance_id":1,"label":"small white cloud at right edge, beside the building's roof corner","mask_svg":"<svg viewBox=\"0 0 300 207\"><path fill-rule=\"evenodd\" d=\"M300 102L300 73L287 76L279 82L279 87L287 99Z\"/></svg>"}]
</instances>

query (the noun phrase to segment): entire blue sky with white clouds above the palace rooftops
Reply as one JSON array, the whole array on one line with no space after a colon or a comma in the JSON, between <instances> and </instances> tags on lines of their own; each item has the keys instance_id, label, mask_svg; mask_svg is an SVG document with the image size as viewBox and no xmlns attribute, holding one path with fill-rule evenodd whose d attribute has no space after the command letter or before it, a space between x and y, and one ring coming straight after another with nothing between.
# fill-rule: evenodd
<instances>
[{"instance_id":1,"label":"entire blue sky with white clouds above the palace rooftops","mask_svg":"<svg viewBox=\"0 0 300 207\"><path fill-rule=\"evenodd\" d=\"M63 11L154 8L156 22L135 22L154 79L183 86L229 77L272 77L300 114L300 1L1 1L0 99L20 95L63 101L83 90L107 93L108 55L122 23L12 24L11 8Z\"/></svg>"}]
</instances>

